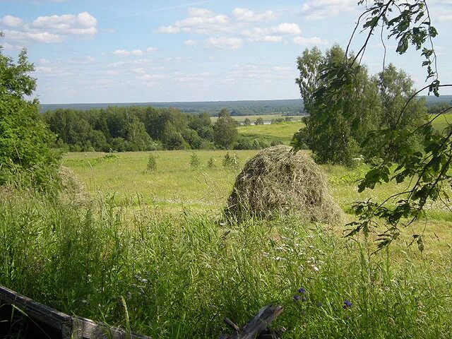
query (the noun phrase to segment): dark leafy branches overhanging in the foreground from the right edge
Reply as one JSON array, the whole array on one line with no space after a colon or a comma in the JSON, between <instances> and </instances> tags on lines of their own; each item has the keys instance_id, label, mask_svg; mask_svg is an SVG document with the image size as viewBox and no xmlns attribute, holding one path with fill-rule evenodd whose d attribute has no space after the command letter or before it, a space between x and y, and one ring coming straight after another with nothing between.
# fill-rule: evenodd
<instances>
[{"instance_id":1,"label":"dark leafy branches overhanging in the foreground from the right edge","mask_svg":"<svg viewBox=\"0 0 452 339\"><path fill-rule=\"evenodd\" d=\"M364 1L360 4L364 4ZM438 33L432 25L427 1L374 1L367 4L352 33L350 43L359 25L362 25L362 32L366 34L364 44L355 56L348 54L349 44L344 60L331 65L321 74L321 78L328 79L328 82L316 90L316 99L323 102L328 100L338 108L344 105L340 98L347 93L358 76L359 59L362 58L376 28L381 28L381 34L385 29L388 30L388 37L396 40L398 44L396 52L399 54L407 52L410 46L420 50L424 57L422 66L427 71L428 84L417 92L407 93L410 96L405 98L404 102L393 105L393 109L388 111L391 112L391 123L379 130L378 134L391 152L380 153L359 183L359 191L374 189L377 184L390 180L403 183L404 189L388 196L382 202L368 200L355 204L358 221L350 224L349 234L367 234L383 224L383 231L379 231L378 238L379 247L383 248L398 238L401 227L421 218L428 203L444 202L446 208L450 206L448 189L451 186L452 128L448 124L446 129L439 133L433 129L432 121L448 112L451 107L445 108L418 126L405 126L403 120L415 102L415 96L422 90L439 96L441 87L451 85L440 84L435 68L433 39ZM420 148L416 145L420 145ZM423 249L422 234L414 234L412 241Z\"/></svg>"}]
</instances>

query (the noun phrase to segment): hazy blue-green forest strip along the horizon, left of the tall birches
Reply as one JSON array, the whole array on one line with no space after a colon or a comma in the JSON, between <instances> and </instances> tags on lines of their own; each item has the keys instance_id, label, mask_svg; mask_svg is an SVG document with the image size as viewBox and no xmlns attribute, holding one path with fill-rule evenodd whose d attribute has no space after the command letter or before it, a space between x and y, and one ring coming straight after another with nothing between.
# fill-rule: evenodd
<instances>
[{"instance_id":1,"label":"hazy blue-green forest strip along the horizon, left of the tall birches","mask_svg":"<svg viewBox=\"0 0 452 339\"><path fill-rule=\"evenodd\" d=\"M207 113L210 117L217 117L220 110L227 109L232 117L244 115L300 115L304 113L303 101L295 100L244 100L244 101L207 101L207 102L130 102L107 104L52 104L41 105L41 112L55 109L106 109L107 107L157 107L177 108L184 113Z\"/></svg>"}]
</instances>

